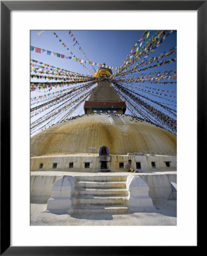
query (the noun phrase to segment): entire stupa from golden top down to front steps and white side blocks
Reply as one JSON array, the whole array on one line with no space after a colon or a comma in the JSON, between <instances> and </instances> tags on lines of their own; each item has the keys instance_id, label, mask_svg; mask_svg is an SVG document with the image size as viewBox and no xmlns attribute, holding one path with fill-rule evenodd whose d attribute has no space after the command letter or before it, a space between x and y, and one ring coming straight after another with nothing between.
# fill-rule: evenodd
<instances>
[{"instance_id":1,"label":"entire stupa from golden top down to front steps and white side blocks","mask_svg":"<svg viewBox=\"0 0 207 256\"><path fill-rule=\"evenodd\" d=\"M95 73L100 81L84 115L31 138L31 199L47 202L46 212L148 211L151 197L168 198L176 182L176 135L126 115L111 73ZM138 174L127 172L129 159Z\"/></svg>"}]
</instances>

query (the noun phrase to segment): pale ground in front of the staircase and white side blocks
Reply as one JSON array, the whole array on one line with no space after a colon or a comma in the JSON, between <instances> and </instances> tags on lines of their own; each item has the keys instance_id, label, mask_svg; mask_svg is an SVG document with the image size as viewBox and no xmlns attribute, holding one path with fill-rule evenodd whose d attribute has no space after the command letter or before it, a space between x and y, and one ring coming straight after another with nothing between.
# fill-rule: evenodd
<instances>
[{"instance_id":1,"label":"pale ground in front of the staircase and white side blocks","mask_svg":"<svg viewBox=\"0 0 207 256\"><path fill-rule=\"evenodd\" d=\"M177 201L153 199L150 213L54 214L43 212L47 204L31 202L31 226L176 226Z\"/></svg>"}]
</instances>

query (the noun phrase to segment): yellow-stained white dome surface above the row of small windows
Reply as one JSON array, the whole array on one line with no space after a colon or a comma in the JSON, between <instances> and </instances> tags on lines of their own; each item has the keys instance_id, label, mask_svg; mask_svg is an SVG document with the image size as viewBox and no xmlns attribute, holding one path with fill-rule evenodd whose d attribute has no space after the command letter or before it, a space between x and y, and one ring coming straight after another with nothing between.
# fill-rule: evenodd
<instances>
[{"instance_id":1,"label":"yellow-stained white dome surface above the row of small windows","mask_svg":"<svg viewBox=\"0 0 207 256\"><path fill-rule=\"evenodd\" d=\"M83 115L56 125L31 138L31 156L88 153L105 145L111 155L132 151L176 154L176 135L151 123L133 121L127 115L115 123L107 114Z\"/></svg>"}]
</instances>

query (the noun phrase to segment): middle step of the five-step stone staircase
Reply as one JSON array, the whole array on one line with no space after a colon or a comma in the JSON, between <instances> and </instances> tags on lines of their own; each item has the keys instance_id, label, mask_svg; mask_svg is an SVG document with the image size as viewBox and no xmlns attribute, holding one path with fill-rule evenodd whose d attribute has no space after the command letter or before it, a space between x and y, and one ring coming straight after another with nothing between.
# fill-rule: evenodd
<instances>
[{"instance_id":1,"label":"middle step of the five-step stone staircase","mask_svg":"<svg viewBox=\"0 0 207 256\"><path fill-rule=\"evenodd\" d=\"M127 189L77 189L74 196L128 196Z\"/></svg>"}]
</instances>

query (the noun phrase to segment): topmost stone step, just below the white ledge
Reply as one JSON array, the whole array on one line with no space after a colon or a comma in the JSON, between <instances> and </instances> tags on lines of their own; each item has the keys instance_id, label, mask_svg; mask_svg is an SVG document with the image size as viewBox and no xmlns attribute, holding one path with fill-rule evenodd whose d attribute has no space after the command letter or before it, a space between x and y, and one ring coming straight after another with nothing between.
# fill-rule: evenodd
<instances>
[{"instance_id":1,"label":"topmost stone step, just below the white ledge","mask_svg":"<svg viewBox=\"0 0 207 256\"><path fill-rule=\"evenodd\" d=\"M127 176L105 175L105 176L77 176L76 181L91 181L91 182L115 182L126 181Z\"/></svg>"}]
</instances>

